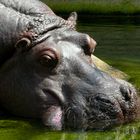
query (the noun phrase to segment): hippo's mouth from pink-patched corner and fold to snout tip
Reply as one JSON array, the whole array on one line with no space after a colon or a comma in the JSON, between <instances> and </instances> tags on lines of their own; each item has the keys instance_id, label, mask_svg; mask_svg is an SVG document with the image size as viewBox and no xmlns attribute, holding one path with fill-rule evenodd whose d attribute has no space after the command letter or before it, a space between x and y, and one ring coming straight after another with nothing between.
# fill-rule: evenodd
<instances>
[{"instance_id":1,"label":"hippo's mouth from pink-patched corner and fold to snout tip","mask_svg":"<svg viewBox=\"0 0 140 140\"><path fill-rule=\"evenodd\" d=\"M135 105L124 101L123 96L118 100L117 96L121 94L108 96L97 93L84 97L85 105L81 105L64 103L63 96L56 92L49 91L49 94L53 94L59 103L50 105L43 114L43 123L51 130L104 130L135 118ZM125 106L129 107L126 109ZM131 114L128 115L129 112Z\"/></svg>"}]
</instances>

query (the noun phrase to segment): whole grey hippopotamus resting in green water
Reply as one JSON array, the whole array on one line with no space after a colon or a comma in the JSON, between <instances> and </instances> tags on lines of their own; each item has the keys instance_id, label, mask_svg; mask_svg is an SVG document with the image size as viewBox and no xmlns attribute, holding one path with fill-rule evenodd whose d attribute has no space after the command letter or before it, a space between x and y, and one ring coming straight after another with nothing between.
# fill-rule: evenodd
<instances>
[{"instance_id":1,"label":"whole grey hippopotamus resting in green water","mask_svg":"<svg viewBox=\"0 0 140 140\"><path fill-rule=\"evenodd\" d=\"M0 106L52 130L134 120L137 94L91 61L96 41L38 0L0 0Z\"/></svg>"}]
</instances>

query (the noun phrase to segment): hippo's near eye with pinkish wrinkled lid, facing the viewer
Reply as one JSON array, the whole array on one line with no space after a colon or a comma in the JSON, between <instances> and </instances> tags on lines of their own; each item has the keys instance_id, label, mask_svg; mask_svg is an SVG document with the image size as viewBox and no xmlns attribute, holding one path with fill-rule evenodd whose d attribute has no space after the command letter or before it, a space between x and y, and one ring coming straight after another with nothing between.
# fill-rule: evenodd
<instances>
[{"instance_id":1,"label":"hippo's near eye with pinkish wrinkled lid, facing the viewer","mask_svg":"<svg viewBox=\"0 0 140 140\"><path fill-rule=\"evenodd\" d=\"M46 66L49 69L52 69L56 67L58 63L58 58L54 51L46 50L42 52L39 58L39 62L41 65Z\"/></svg>"}]
</instances>

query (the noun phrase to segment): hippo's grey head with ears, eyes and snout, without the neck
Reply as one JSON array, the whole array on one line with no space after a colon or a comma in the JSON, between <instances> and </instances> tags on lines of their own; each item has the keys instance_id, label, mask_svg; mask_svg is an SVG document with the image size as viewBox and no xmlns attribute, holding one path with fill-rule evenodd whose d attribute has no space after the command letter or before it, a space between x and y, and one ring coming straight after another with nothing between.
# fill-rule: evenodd
<instances>
[{"instance_id":1,"label":"hippo's grey head with ears, eyes and snout, without the neck","mask_svg":"<svg viewBox=\"0 0 140 140\"><path fill-rule=\"evenodd\" d=\"M56 28L15 46L0 69L0 102L12 114L56 130L104 129L135 118L134 88L91 63L96 42L87 34Z\"/></svg>"}]
</instances>

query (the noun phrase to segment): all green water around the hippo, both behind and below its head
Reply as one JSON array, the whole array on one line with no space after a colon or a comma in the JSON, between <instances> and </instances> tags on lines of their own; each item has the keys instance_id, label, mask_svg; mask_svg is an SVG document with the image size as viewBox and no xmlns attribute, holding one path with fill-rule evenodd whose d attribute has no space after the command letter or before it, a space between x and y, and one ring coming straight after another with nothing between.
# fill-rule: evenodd
<instances>
[{"instance_id":1,"label":"all green water around the hippo, both behind and below its head","mask_svg":"<svg viewBox=\"0 0 140 140\"><path fill-rule=\"evenodd\" d=\"M94 21L94 20L93 20ZM78 30L95 38L96 56L131 76L140 88L140 26L79 23ZM139 140L140 121L104 132L50 132L35 120L0 118L0 140Z\"/></svg>"}]
</instances>

